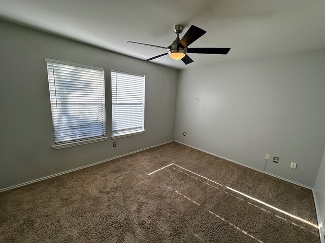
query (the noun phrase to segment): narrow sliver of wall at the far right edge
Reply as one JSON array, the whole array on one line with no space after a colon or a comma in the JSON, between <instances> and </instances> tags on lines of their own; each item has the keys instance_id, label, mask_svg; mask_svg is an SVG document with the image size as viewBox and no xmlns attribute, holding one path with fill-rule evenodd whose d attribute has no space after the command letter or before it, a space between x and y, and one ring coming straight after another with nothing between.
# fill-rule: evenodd
<instances>
[{"instance_id":1,"label":"narrow sliver of wall at the far right edge","mask_svg":"<svg viewBox=\"0 0 325 243\"><path fill-rule=\"evenodd\" d=\"M318 175L314 185L317 205L319 210L319 223L322 224L322 232L325 232L325 151L321 159Z\"/></svg>"}]
</instances>

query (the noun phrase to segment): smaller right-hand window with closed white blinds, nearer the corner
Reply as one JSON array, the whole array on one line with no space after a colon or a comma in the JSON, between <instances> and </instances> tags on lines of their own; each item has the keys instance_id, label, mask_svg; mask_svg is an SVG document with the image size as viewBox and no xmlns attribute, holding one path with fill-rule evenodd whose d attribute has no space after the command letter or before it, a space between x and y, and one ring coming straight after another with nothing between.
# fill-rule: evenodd
<instances>
[{"instance_id":1,"label":"smaller right-hand window with closed white blinds, nearer the corner","mask_svg":"<svg viewBox=\"0 0 325 243\"><path fill-rule=\"evenodd\" d=\"M144 133L145 76L112 70L112 138Z\"/></svg>"}]
</instances>

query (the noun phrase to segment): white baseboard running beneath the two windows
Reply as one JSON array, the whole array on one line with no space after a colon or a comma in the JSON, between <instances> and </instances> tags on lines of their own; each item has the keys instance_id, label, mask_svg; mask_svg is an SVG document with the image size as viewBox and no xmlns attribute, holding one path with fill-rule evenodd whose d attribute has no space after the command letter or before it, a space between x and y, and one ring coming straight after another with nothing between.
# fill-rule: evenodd
<instances>
[{"instance_id":1,"label":"white baseboard running beneath the two windows","mask_svg":"<svg viewBox=\"0 0 325 243\"><path fill-rule=\"evenodd\" d=\"M63 172L60 172L60 173L57 173L57 174L54 174L54 175L45 176L45 177L42 177L42 178L39 178L39 179L35 179L35 180L32 180L32 181L27 181L27 182L24 182L24 183L21 183L21 184L18 184L18 185L9 186L9 187L0 189L0 192L8 191L8 190L11 190L11 189L14 189L14 188L17 188L17 187L25 186L25 185L28 185L28 184L31 184L31 183L35 183L35 182L38 182L38 181L43 181L43 180L46 180L46 179L49 179L49 178L52 178L52 177L55 177L55 176L60 176L60 175L67 174L67 173L74 172L74 171L78 171L78 170L81 170L81 169L84 169L84 168L87 168L87 167L91 167L91 166L95 166L95 165L98 165L98 164L102 164L104 162L107 162L107 161L110 161L110 160L113 160L113 159L116 159L116 158L124 157L126 155L130 155L130 154L133 154L133 153L138 153L138 152L141 152L143 150L147 150L149 148L154 148L154 147L157 147L157 146L160 146L160 145L163 145L163 144L166 144L166 143L170 143L170 142L173 142L173 141L174 140L171 140L171 141L168 141L168 142L165 142L165 143L156 144L156 145L153 145L153 146L150 146L150 147L146 147L146 148L142 148L142 149L139 149L139 150L136 150L136 151L133 151L133 152L125 153L125 154L118 155L118 156L115 156L115 157L112 157L112 158L108 158L108 159L104 159L102 161L98 161L98 162L92 163L90 165L78 167L78 168L75 168L75 169L72 169L72 170L69 170L69 171L63 171Z\"/></svg>"}]
</instances>

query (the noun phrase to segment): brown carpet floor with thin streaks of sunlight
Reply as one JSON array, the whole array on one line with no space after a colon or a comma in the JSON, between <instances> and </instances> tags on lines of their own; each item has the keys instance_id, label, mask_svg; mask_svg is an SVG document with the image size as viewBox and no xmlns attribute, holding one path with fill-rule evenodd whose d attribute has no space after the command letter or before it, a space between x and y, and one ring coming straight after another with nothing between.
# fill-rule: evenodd
<instances>
[{"instance_id":1,"label":"brown carpet floor with thin streaks of sunlight","mask_svg":"<svg viewBox=\"0 0 325 243\"><path fill-rule=\"evenodd\" d=\"M0 193L0 242L320 242L315 215L310 190L172 142Z\"/></svg>"}]
</instances>

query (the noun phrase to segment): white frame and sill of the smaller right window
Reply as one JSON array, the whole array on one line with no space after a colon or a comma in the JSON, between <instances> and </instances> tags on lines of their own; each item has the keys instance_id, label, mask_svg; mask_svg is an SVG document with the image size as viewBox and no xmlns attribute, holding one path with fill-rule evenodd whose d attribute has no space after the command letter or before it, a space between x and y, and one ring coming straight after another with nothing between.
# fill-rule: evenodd
<instances>
[{"instance_id":1,"label":"white frame and sill of the smaller right window","mask_svg":"<svg viewBox=\"0 0 325 243\"><path fill-rule=\"evenodd\" d=\"M113 95L112 95L112 73L113 72L143 77L143 129L142 130L126 132L126 133L123 133L123 134L115 134L115 135L113 134ZM130 73L130 72L123 72L123 71L118 71L118 70L111 69L111 90L110 91L111 91L111 117L112 117L112 126L111 126L111 128L112 128L112 136L111 136L111 139L117 139L117 138L128 137L128 136L133 136L133 135L138 135L138 134L145 133L146 132L146 129L145 129L146 75L137 74L137 73Z\"/></svg>"}]
</instances>

